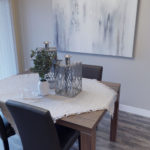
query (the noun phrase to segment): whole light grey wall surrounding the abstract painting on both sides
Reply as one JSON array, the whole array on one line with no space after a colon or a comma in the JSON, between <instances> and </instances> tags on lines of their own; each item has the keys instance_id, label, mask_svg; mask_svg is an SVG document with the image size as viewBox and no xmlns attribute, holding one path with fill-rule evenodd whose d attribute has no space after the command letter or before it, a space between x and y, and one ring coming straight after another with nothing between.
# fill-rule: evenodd
<instances>
[{"instance_id":1,"label":"whole light grey wall surrounding the abstract painting on both sides","mask_svg":"<svg viewBox=\"0 0 150 150\"><path fill-rule=\"evenodd\" d=\"M31 66L30 50L52 40L50 0L18 0L24 69ZM103 80L122 84L121 104L150 110L150 0L139 5L134 58L71 54L83 63L102 65ZM63 56L64 53L60 53Z\"/></svg>"}]
</instances>

